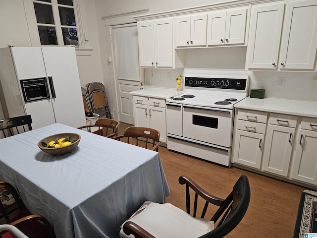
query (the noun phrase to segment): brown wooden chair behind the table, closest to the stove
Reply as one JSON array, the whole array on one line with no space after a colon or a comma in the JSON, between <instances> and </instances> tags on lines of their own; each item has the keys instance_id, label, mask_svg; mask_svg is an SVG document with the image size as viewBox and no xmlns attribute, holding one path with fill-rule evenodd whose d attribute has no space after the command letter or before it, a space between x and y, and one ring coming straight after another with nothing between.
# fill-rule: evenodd
<instances>
[{"instance_id":1,"label":"brown wooden chair behind the table, closest to the stove","mask_svg":"<svg viewBox=\"0 0 317 238\"><path fill-rule=\"evenodd\" d=\"M130 126L125 129L123 135L115 136L112 139L159 151L159 131L153 128Z\"/></svg>"}]
</instances>

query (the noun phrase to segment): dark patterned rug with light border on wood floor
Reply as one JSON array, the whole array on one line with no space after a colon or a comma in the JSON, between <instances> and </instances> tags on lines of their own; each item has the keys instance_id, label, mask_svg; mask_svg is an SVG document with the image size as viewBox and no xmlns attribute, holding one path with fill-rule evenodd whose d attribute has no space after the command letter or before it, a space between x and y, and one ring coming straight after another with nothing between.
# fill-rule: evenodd
<instances>
[{"instance_id":1,"label":"dark patterned rug with light border on wood floor","mask_svg":"<svg viewBox=\"0 0 317 238\"><path fill-rule=\"evenodd\" d=\"M317 191L303 191L299 203L294 238L307 233L317 233Z\"/></svg>"}]
</instances>

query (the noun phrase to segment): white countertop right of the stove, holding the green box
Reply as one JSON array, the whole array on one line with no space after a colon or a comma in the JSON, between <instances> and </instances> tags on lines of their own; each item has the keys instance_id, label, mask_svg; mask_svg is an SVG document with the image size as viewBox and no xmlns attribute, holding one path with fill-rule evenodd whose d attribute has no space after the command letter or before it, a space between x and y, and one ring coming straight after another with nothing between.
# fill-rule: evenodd
<instances>
[{"instance_id":1,"label":"white countertop right of the stove, holding the green box","mask_svg":"<svg viewBox=\"0 0 317 238\"><path fill-rule=\"evenodd\" d=\"M317 118L317 102L280 98L250 98L234 104L235 108Z\"/></svg>"}]
</instances>

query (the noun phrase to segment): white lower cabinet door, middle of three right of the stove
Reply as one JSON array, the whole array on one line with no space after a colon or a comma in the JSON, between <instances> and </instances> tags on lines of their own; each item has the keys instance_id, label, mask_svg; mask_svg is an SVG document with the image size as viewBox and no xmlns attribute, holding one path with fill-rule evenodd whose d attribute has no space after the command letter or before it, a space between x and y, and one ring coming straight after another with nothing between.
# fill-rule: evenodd
<instances>
[{"instance_id":1,"label":"white lower cabinet door, middle of three right of the stove","mask_svg":"<svg viewBox=\"0 0 317 238\"><path fill-rule=\"evenodd\" d=\"M281 176L288 175L295 128L279 125L267 126L263 170Z\"/></svg>"}]
</instances>

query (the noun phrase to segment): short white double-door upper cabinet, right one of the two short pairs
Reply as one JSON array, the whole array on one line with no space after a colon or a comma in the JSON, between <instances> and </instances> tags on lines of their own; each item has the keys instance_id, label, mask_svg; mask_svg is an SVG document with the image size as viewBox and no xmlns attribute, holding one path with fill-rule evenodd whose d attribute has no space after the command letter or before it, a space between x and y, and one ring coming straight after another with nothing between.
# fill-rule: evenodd
<instances>
[{"instance_id":1,"label":"short white double-door upper cabinet, right one of the two short pairs","mask_svg":"<svg viewBox=\"0 0 317 238\"><path fill-rule=\"evenodd\" d=\"M210 12L207 23L207 45L245 45L246 23L246 7Z\"/></svg>"}]
</instances>

